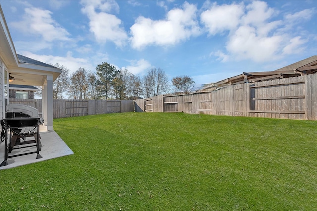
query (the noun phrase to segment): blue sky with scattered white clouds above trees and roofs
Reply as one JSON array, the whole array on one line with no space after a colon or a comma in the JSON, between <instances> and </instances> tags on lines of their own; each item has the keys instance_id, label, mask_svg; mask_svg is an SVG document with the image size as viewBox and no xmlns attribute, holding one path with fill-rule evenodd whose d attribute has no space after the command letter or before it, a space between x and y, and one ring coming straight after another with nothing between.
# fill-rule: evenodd
<instances>
[{"instance_id":1,"label":"blue sky with scattered white clouds above trees and roofs","mask_svg":"<svg viewBox=\"0 0 317 211\"><path fill-rule=\"evenodd\" d=\"M102 62L196 84L317 55L317 1L1 0L18 54L92 72Z\"/></svg>"}]
</instances>

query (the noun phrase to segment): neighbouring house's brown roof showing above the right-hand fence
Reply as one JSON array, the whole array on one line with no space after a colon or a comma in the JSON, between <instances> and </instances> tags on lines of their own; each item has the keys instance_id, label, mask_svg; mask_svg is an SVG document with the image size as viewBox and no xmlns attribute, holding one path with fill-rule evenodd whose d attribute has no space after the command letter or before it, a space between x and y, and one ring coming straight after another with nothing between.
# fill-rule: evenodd
<instances>
[{"instance_id":1,"label":"neighbouring house's brown roof showing above the right-hand fence","mask_svg":"<svg viewBox=\"0 0 317 211\"><path fill-rule=\"evenodd\" d=\"M302 76L306 74L317 73L317 56L311 56L307 59L295 62L291 65L277 69L275 71L267 72L244 72L240 75L233 76L216 83L206 84L198 92L212 91L220 86L235 85L246 82L265 81L280 78L289 78L295 76Z\"/></svg>"}]
</instances>

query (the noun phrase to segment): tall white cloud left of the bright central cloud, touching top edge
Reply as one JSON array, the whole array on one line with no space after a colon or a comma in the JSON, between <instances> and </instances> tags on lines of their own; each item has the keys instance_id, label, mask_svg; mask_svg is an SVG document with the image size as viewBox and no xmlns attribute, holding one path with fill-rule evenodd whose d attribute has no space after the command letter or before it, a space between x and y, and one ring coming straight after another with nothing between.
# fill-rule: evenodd
<instances>
[{"instance_id":1,"label":"tall white cloud left of the bright central cloud, touching top edge","mask_svg":"<svg viewBox=\"0 0 317 211\"><path fill-rule=\"evenodd\" d=\"M119 11L119 6L115 1L82 1L82 4L84 6L82 12L89 18L90 31L97 42L112 41L120 47L125 44L128 36L121 27L122 21L115 15L107 13L112 10Z\"/></svg>"}]
</instances>

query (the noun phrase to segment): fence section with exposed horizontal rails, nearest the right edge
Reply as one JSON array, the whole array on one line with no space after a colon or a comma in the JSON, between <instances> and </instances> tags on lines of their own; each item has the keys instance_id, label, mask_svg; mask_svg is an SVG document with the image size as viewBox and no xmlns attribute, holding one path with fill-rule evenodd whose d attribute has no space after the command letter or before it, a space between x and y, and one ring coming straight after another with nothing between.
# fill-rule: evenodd
<instances>
[{"instance_id":1,"label":"fence section with exposed horizontal rails, nearest the right edge","mask_svg":"<svg viewBox=\"0 0 317 211\"><path fill-rule=\"evenodd\" d=\"M249 116L304 119L305 84L303 77L250 84Z\"/></svg>"}]
</instances>

